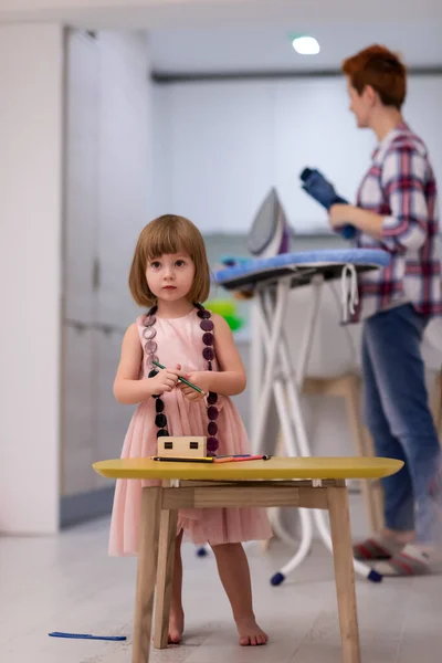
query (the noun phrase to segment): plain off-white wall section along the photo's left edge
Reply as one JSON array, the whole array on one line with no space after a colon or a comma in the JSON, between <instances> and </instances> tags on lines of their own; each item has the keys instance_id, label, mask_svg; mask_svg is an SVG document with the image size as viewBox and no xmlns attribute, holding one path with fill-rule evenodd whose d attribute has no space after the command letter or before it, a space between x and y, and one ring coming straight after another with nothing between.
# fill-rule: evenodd
<instances>
[{"instance_id":1,"label":"plain off-white wall section along the photo's left edge","mask_svg":"<svg viewBox=\"0 0 442 663\"><path fill-rule=\"evenodd\" d=\"M0 530L59 522L63 35L0 28Z\"/></svg>"}]
</instances>

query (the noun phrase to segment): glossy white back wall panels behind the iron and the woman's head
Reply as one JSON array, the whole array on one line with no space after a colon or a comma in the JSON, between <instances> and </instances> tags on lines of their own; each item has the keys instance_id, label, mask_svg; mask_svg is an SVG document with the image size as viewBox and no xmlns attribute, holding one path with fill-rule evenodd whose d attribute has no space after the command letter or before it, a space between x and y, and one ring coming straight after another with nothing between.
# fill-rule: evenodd
<instances>
[{"instance_id":1,"label":"glossy white back wall panels behind the iron and the woman's head","mask_svg":"<svg viewBox=\"0 0 442 663\"><path fill-rule=\"evenodd\" d=\"M442 76L410 77L406 117L442 182L441 97ZM356 128L340 77L159 85L155 104L157 209L187 214L206 232L246 232L272 186L297 231L326 230L301 170L318 167L354 199L375 146Z\"/></svg>"}]
</instances>

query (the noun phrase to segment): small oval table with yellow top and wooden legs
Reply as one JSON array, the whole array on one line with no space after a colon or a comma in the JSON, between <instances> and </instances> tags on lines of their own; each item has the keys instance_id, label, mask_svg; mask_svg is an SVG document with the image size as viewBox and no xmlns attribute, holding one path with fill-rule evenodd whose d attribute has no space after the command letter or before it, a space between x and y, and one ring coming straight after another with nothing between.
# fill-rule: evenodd
<instances>
[{"instance_id":1,"label":"small oval table with yellow top and wooden legs","mask_svg":"<svg viewBox=\"0 0 442 663\"><path fill-rule=\"evenodd\" d=\"M220 464L123 459L94 463L94 470L109 478L162 481L159 487L143 490L133 663L149 661L155 592L154 645L167 646L178 509L229 506L328 511L343 663L360 663L345 480L389 476L402 464L390 459L368 457L274 457Z\"/></svg>"}]
</instances>

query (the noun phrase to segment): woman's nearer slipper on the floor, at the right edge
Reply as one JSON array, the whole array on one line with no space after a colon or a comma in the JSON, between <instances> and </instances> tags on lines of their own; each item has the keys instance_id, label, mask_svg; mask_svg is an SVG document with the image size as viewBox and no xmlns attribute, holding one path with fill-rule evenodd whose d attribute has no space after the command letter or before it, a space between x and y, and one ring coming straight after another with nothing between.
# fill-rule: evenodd
<instances>
[{"instance_id":1,"label":"woman's nearer slipper on the floor, at the right edge","mask_svg":"<svg viewBox=\"0 0 442 663\"><path fill-rule=\"evenodd\" d=\"M408 544L388 561L380 561L376 570L382 576L430 576L442 573L442 554L440 550L427 552Z\"/></svg>"}]
</instances>

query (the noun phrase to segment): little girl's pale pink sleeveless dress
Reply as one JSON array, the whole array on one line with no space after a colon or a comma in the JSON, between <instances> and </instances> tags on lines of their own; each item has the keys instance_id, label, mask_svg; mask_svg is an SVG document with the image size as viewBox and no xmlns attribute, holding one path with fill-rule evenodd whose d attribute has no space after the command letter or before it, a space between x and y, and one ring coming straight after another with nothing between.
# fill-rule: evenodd
<instances>
[{"instance_id":1,"label":"little girl's pale pink sleeveless dress","mask_svg":"<svg viewBox=\"0 0 442 663\"><path fill-rule=\"evenodd\" d=\"M143 323L145 315L137 318L143 347ZM186 371L207 370L202 357L203 332L197 311L180 318L159 318L155 325L158 344L157 356L165 366L180 364ZM144 356L143 366L145 366ZM215 361L213 370L218 370ZM146 371L147 372L147 371ZM144 371L143 378L148 376ZM168 431L171 435L207 435L207 404L202 400L189 402L179 389L162 397ZM220 442L218 453L250 453L248 435L241 418L228 397L219 397L217 420ZM155 425L155 399L141 402L130 421L123 446L122 457L146 457L157 453L157 427ZM140 517L141 490L145 485L159 482L118 480L115 488L114 508L110 523L109 555L136 555L138 550L138 527ZM178 532L194 544L219 545L270 538L271 526L263 508L204 508L179 512Z\"/></svg>"}]
</instances>

